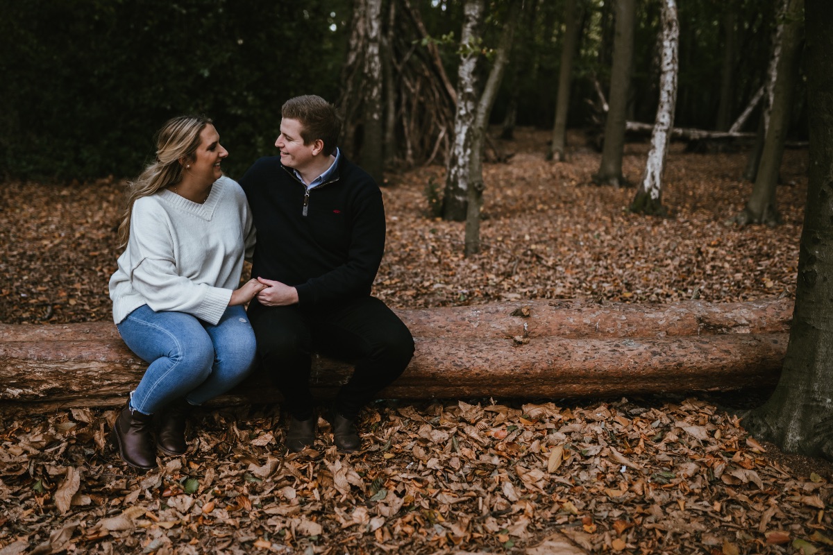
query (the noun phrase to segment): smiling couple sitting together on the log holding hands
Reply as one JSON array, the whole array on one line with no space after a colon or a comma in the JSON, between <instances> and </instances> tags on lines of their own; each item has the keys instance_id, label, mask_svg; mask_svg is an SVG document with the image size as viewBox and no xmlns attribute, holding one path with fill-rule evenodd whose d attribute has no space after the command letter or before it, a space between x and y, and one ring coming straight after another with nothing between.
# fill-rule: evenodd
<instances>
[{"instance_id":1,"label":"smiling couple sitting together on the log holding hands","mask_svg":"<svg viewBox=\"0 0 833 555\"><path fill-rule=\"evenodd\" d=\"M359 410L402 374L414 342L370 294L385 245L382 193L338 150L340 131L321 97L290 99L280 156L256 161L239 185L222 175L228 151L211 120L175 117L157 133L156 159L128 186L110 280L119 334L149 364L112 430L125 463L155 468L157 448L186 453L192 406L256 365L282 393L286 447L312 446L313 351L355 363L326 417L339 450L360 448ZM253 278L238 287L250 257Z\"/></svg>"}]
</instances>

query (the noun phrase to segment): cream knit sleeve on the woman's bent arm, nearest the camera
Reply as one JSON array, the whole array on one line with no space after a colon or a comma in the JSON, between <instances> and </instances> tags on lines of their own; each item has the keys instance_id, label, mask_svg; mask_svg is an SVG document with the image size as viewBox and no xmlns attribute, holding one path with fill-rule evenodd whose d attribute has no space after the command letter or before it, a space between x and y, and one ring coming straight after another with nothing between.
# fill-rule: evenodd
<instances>
[{"instance_id":1,"label":"cream knit sleeve on the woman's bent arm, nearest the camera","mask_svg":"<svg viewBox=\"0 0 833 555\"><path fill-rule=\"evenodd\" d=\"M172 237L152 205L133 206L129 250L130 282L157 312L184 312L216 325L232 299L232 290L195 283L177 273Z\"/></svg>"}]
</instances>

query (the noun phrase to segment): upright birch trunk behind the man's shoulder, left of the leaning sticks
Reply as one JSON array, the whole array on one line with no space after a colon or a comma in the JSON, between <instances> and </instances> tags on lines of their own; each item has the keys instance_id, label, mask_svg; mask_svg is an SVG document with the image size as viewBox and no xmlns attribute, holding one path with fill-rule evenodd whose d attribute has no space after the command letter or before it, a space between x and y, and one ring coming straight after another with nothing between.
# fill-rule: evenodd
<instances>
[{"instance_id":1,"label":"upright birch trunk behind the man's shoulder, left of the leaning sticks","mask_svg":"<svg viewBox=\"0 0 833 555\"><path fill-rule=\"evenodd\" d=\"M367 46L364 57L364 134L362 136L362 168L383 186L384 141L382 136L382 0L367 2Z\"/></svg>"}]
</instances>

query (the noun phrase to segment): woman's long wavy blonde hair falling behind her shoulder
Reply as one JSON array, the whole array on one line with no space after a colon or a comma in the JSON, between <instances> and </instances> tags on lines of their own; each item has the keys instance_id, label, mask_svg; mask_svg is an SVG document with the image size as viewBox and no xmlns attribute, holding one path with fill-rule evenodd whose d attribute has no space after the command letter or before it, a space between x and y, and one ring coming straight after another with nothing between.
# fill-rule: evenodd
<instances>
[{"instance_id":1,"label":"woman's long wavy blonde hair falling behind her shoulder","mask_svg":"<svg viewBox=\"0 0 833 555\"><path fill-rule=\"evenodd\" d=\"M165 122L155 136L156 158L133 181L127 182L127 207L118 226L119 248L130 239L130 216L133 204L142 196L182 181L181 161L191 161L200 146L200 133L212 123L206 116L177 116Z\"/></svg>"}]
</instances>

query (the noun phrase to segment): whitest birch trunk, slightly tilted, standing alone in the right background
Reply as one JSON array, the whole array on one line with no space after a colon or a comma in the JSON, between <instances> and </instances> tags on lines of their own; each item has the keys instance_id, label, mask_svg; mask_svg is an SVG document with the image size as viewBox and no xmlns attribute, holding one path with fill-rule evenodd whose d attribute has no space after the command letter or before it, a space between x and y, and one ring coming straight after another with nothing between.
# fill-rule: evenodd
<instances>
[{"instance_id":1,"label":"whitest birch trunk, slightly tilted, standing alone in the right background","mask_svg":"<svg viewBox=\"0 0 833 555\"><path fill-rule=\"evenodd\" d=\"M677 21L676 0L665 0L662 4L660 105L656 109L656 122L651 133L651 151L648 152L645 174L631 203L632 212L666 215L666 209L662 206L662 170L665 167L668 143L671 142L671 130L674 126L679 42L680 24Z\"/></svg>"}]
</instances>

